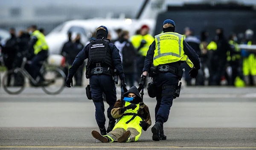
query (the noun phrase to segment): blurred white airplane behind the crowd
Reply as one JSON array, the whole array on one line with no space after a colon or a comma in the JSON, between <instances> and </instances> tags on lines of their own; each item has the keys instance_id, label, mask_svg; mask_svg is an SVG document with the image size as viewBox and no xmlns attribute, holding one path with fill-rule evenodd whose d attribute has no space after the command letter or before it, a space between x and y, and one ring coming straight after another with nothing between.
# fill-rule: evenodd
<instances>
[{"instance_id":1,"label":"blurred white airplane behind the crowd","mask_svg":"<svg viewBox=\"0 0 256 150\"><path fill-rule=\"evenodd\" d=\"M111 39L117 39L116 29L122 28L123 30L128 30L130 35L134 35L137 29L140 29L142 25L148 25L151 29L151 34L155 26L155 20L145 19L145 20L132 20L132 19L88 19L88 20L71 20L53 29L47 36L46 40L49 45L50 54L60 54L62 46L67 42L67 33L72 32L72 39L75 38L76 34L81 34L81 43L86 45L90 40L91 33L93 33L96 28L100 25L104 25L108 28L111 34Z\"/></svg>"}]
</instances>

